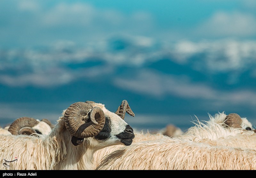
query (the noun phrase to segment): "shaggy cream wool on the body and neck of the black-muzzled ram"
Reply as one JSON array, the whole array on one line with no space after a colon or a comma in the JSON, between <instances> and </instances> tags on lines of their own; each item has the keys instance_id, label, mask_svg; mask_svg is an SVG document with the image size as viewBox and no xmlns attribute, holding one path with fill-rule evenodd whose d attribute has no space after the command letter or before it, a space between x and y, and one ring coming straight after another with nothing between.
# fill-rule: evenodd
<instances>
[{"instance_id":1,"label":"shaggy cream wool on the body and neck of the black-muzzled ram","mask_svg":"<svg viewBox=\"0 0 256 178\"><path fill-rule=\"evenodd\" d=\"M14 160L8 170L49 170L65 159L64 121L59 120L49 135L0 135L0 160ZM65 127L65 125L64 125ZM65 129L64 129L65 130ZM4 169L4 167L2 167Z\"/></svg>"}]
</instances>

